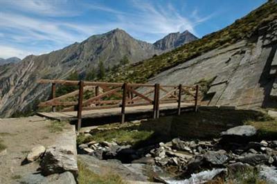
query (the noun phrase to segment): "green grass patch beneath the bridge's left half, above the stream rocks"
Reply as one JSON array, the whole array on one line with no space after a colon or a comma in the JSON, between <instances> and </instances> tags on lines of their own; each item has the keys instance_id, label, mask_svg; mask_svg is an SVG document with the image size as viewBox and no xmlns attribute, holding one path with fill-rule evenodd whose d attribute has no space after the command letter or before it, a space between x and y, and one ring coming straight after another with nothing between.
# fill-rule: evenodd
<instances>
[{"instance_id":1,"label":"green grass patch beneath the bridge's left half, above the stream rocks","mask_svg":"<svg viewBox=\"0 0 277 184\"><path fill-rule=\"evenodd\" d=\"M107 131L100 131L93 134L92 137L86 137L84 134L80 134L77 138L77 144L80 145L92 140L99 141L115 141L119 145L136 145L138 142L147 140L152 136L154 131L143 131L136 129L111 129Z\"/></svg>"}]
</instances>

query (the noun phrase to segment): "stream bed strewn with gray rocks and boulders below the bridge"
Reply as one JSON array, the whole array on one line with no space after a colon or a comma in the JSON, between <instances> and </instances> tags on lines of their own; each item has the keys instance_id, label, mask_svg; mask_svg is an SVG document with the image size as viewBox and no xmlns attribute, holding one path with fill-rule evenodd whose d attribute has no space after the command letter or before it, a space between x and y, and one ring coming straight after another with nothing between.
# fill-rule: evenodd
<instances>
[{"instance_id":1,"label":"stream bed strewn with gray rocks and boulders below the bridge","mask_svg":"<svg viewBox=\"0 0 277 184\"><path fill-rule=\"evenodd\" d=\"M88 131L87 136L93 135ZM212 140L173 138L136 148L90 141L78 145L78 153L94 172L101 172L102 165L131 181L277 183L277 140L259 140L250 125L228 129Z\"/></svg>"}]
</instances>

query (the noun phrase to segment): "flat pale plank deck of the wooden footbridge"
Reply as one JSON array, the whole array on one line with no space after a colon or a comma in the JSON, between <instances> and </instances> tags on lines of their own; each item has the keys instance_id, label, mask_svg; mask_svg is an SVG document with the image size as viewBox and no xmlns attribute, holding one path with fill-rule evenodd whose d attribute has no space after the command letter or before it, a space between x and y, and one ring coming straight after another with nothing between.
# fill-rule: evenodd
<instances>
[{"instance_id":1,"label":"flat pale plank deck of the wooden footbridge","mask_svg":"<svg viewBox=\"0 0 277 184\"><path fill-rule=\"evenodd\" d=\"M194 107L194 104L181 103L181 108ZM160 104L160 111L178 109L177 103ZM125 114L128 113L148 113L153 111L153 105L143 105L136 107L125 107ZM37 112L39 116L51 118L54 120L78 120L77 111L68 112ZM119 116L121 107L111 109L94 109L82 111L82 118L102 118L107 116Z\"/></svg>"}]
</instances>

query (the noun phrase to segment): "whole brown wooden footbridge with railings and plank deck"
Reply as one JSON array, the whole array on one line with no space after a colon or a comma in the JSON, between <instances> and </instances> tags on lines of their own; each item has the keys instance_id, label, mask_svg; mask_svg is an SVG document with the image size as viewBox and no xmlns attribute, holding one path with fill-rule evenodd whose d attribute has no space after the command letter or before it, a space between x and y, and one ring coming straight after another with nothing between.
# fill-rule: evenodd
<instances>
[{"instance_id":1,"label":"whole brown wooden footbridge with railings and plank deck","mask_svg":"<svg viewBox=\"0 0 277 184\"><path fill-rule=\"evenodd\" d=\"M38 112L39 116L56 120L78 120L82 118L121 116L125 114L149 113L159 118L160 111L181 109L197 111L199 86L128 84L111 82L87 82L70 80L39 80L51 84L51 99L39 103L39 107L52 107L52 111ZM56 85L78 86L78 90L56 97ZM57 112L57 110L59 110Z\"/></svg>"}]
</instances>

